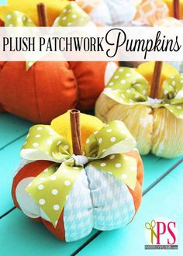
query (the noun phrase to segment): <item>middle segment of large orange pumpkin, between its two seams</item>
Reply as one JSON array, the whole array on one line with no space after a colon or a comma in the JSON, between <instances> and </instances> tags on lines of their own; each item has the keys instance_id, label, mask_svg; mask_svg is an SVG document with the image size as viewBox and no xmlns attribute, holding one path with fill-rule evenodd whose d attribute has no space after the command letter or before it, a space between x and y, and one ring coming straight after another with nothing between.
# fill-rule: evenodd
<instances>
[{"instance_id":1,"label":"middle segment of large orange pumpkin, between its two seams","mask_svg":"<svg viewBox=\"0 0 183 256\"><path fill-rule=\"evenodd\" d=\"M76 107L77 88L67 62L37 62L35 85L40 123L50 123Z\"/></svg>"}]
</instances>

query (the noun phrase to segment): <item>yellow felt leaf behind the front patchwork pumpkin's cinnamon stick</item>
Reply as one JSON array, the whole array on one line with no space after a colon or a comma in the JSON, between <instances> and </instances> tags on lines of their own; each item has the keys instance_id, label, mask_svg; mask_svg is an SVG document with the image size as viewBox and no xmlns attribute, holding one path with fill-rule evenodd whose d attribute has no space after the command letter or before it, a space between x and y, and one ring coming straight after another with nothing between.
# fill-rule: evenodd
<instances>
[{"instance_id":1,"label":"yellow felt leaf behind the front patchwork pumpkin's cinnamon stick","mask_svg":"<svg viewBox=\"0 0 183 256\"><path fill-rule=\"evenodd\" d=\"M80 123L81 123L81 145L82 149L84 149L85 142L91 133L94 133L96 130L100 130L104 123L100 121L95 116L80 115ZM51 127L56 130L61 136L66 137L67 140L72 145L71 140L71 123L70 123L70 112L68 111L64 115L58 116L51 122Z\"/></svg>"}]
</instances>

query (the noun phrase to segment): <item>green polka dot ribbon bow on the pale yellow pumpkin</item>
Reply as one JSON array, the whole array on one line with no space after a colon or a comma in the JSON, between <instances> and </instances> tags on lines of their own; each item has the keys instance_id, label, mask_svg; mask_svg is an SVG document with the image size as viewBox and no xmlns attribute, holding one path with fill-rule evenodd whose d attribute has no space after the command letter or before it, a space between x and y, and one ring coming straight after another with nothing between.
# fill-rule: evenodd
<instances>
[{"instance_id":1,"label":"green polka dot ribbon bow on the pale yellow pumpkin","mask_svg":"<svg viewBox=\"0 0 183 256\"><path fill-rule=\"evenodd\" d=\"M130 67L118 67L104 90L110 99L124 105L143 104L153 109L164 107L183 119L183 74L167 78L162 85L161 99L151 99L150 85Z\"/></svg>"}]
</instances>

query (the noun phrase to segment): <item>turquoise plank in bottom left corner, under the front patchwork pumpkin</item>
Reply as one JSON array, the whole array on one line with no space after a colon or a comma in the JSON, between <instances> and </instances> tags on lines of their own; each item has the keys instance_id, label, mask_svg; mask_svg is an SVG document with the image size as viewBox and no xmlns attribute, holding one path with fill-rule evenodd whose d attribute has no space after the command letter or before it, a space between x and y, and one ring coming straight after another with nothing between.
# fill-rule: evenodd
<instances>
[{"instance_id":1,"label":"turquoise plank in bottom left corner, under the front patchwork pumpkin","mask_svg":"<svg viewBox=\"0 0 183 256\"><path fill-rule=\"evenodd\" d=\"M93 230L92 234L94 233ZM65 243L50 234L41 223L34 223L23 216L19 209L0 221L0 237L0 255L3 256L67 256L89 238Z\"/></svg>"}]
</instances>

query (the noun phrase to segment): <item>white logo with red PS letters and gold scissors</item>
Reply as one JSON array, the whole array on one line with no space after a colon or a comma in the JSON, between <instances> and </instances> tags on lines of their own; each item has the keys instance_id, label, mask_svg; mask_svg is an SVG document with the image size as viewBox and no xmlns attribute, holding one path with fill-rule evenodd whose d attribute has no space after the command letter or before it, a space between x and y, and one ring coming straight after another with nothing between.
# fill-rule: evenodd
<instances>
[{"instance_id":1,"label":"white logo with red PS letters and gold scissors","mask_svg":"<svg viewBox=\"0 0 183 256\"><path fill-rule=\"evenodd\" d=\"M178 250L176 222L167 218L156 218L145 223L145 249Z\"/></svg>"}]
</instances>

